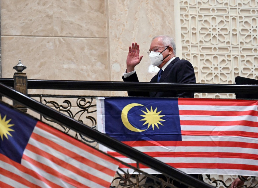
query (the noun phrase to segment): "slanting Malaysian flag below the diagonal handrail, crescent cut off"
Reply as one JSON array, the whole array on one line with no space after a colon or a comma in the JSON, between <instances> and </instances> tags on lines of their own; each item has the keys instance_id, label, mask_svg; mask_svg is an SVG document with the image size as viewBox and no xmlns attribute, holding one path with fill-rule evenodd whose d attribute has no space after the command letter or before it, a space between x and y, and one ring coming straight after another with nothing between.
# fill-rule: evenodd
<instances>
[{"instance_id":1,"label":"slanting Malaysian flag below the diagonal handrail, crescent cut off","mask_svg":"<svg viewBox=\"0 0 258 188\"><path fill-rule=\"evenodd\" d=\"M0 103L0 187L110 187L119 162Z\"/></svg>"}]
</instances>

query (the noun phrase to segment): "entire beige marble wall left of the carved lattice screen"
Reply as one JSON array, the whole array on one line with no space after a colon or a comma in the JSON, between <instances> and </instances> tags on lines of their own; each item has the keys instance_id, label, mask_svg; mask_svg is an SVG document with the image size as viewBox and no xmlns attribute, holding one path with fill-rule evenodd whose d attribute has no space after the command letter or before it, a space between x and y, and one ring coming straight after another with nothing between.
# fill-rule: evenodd
<instances>
[{"instance_id":1,"label":"entire beige marble wall left of the carved lattice screen","mask_svg":"<svg viewBox=\"0 0 258 188\"><path fill-rule=\"evenodd\" d=\"M5 0L0 8L3 78L13 77L12 67L21 59L28 79L122 81L128 47L137 42L144 57L136 71L140 81L149 81L155 74L146 53L152 37L175 37L171 0ZM42 92L60 93L29 91Z\"/></svg>"}]
</instances>

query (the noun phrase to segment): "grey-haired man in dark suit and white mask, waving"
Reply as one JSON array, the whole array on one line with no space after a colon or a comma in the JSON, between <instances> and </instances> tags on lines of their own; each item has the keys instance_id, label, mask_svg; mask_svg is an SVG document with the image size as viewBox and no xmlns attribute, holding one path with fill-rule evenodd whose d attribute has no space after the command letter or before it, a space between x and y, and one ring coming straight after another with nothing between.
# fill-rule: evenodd
<instances>
[{"instance_id":1,"label":"grey-haired man in dark suit and white mask, waving","mask_svg":"<svg viewBox=\"0 0 258 188\"><path fill-rule=\"evenodd\" d=\"M152 39L149 49L150 61L153 65L160 68L150 82L168 83L196 83L193 66L187 60L175 57L175 42L167 35L159 35ZM140 56L140 46L132 43L126 59L126 71L122 79L128 82L138 82L134 67L140 63L143 56ZM161 73L160 73L161 72ZM159 80L158 77L160 76ZM193 98L194 93L189 92L132 92L128 91L129 96L138 97L189 97Z\"/></svg>"}]
</instances>

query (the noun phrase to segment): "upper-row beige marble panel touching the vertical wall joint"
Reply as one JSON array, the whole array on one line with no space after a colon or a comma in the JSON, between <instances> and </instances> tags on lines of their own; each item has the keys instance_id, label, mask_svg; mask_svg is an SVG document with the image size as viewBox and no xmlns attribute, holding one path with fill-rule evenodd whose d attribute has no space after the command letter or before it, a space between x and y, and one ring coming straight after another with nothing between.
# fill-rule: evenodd
<instances>
[{"instance_id":1,"label":"upper-row beige marble panel touching the vertical wall joint","mask_svg":"<svg viewBox=\"0 0 258 188\"><path fill-rule=\"evenodd\" d=\"M107 37L105 0L53 0L54 35Z\"/></svg>"}]
</instances>

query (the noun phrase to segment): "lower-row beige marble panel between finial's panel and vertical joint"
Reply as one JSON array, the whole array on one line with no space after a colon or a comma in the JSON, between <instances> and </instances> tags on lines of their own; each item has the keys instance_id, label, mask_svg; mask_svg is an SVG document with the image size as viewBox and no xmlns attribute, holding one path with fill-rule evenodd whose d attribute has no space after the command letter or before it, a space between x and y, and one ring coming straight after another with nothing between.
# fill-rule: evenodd
<instances>
[{"instance_id":1,"label":"lower-row beige marble panel between finial's panel and vertical joint","mask_svg":"<svg viewBox=\"0 0 258 188\"><path fill-rule=\"evenodd\" d=\"M56 38L54 69L56 80L109 81L107 39ZM108 95L103 91L69 93Z\"/></svg>"}]
</instances>

